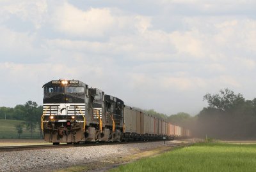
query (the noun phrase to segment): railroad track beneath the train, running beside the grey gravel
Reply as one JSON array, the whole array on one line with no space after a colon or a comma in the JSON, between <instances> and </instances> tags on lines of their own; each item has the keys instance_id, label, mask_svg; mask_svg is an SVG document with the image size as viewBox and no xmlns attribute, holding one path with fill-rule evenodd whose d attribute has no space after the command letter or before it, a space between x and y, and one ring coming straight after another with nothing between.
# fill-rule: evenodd
<instances>
[{"instance_id":1,"label":"railroad track beneath the train, running beside the grey gravel","mask_svg":"<svg viewBox=\"0 0 256 172\"><path fill-rule=\"evenodd\" d=\"M47 148L69 148L69 147L91 147L91 146L101 146L101 145L116 145L116 144L129 144L129 143L145 143L154 142L152 141L124 141L124 142L95 142L95 143L79 143L75 145L29 145L29 146L15 146L15 147L0 147L0 152L12 152L21 150L38 150Z\"/></svg>"}]
</instances>

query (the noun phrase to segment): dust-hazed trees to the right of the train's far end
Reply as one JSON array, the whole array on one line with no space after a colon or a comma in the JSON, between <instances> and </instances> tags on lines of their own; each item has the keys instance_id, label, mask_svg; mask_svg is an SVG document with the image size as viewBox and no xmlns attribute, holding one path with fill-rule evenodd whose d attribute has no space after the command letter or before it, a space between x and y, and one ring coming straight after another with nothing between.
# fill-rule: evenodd
<instances>
[{"instance_id":1,"label":"dust-hazed trees to the right of the train's far end","mask_svg":"<svg viewBox=\"0 0 256 172\"><path fill-rule=\"evenodd\" d=\"M256 98L244 99L243 95L230 89L221 89L218 94L205 94L208 106L198 115L191 117L180 112L174 115L142 110L154 117L191 130L198 138L255 139L256 138Z\"/></svg>"}]
</instances>

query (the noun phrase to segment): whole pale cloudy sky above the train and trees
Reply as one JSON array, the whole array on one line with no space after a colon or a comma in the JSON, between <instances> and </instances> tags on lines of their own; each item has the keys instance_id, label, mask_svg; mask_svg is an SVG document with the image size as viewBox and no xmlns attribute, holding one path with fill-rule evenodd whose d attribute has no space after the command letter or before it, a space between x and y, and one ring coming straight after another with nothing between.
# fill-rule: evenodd
<instances>
[{"instance_id":1,"label":"whole pale cloudy sky above the train and trees","mask_svg":"<svg viewBox=\"0 0 256 172\"><path fill-rule=\"evenodd\" d=\"M129 106L196 115L228 88L256 97L256 1L0 0L0 106L81 80Z\"/></svg>"}]
</instances>

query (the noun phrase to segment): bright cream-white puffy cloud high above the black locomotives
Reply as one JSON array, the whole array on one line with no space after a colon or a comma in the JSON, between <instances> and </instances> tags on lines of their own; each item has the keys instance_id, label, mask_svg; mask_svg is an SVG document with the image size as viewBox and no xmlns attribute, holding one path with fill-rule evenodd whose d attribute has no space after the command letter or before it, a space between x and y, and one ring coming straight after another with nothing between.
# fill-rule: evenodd
<instances>
[{"instance_id":1,"label":"bright cream-white puffy cloud high above the black locomotives","mask_svg":"<svg viewBox=\"0 0 256 172\"><path fill-rule=\"evenodd\" d=\"M52 23L56 31L65 34L99 37L113 28L115 18L108 8L91 8L83 11L72 4L64 3L56 9Z\"/></svg>"}]
</instances>

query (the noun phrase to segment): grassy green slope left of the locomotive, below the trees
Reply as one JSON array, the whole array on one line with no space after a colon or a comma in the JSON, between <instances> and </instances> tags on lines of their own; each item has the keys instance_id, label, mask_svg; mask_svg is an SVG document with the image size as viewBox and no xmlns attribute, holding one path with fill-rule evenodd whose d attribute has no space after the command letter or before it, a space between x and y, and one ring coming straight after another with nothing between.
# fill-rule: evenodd
<instances>
[{"instance_id":1,"label":"grassy green slope left of the locomotive, below the trees","mask_svg":"<svg viewBox=\"0 0 256 172\"><path fill-rule=\"evenodd\" d=\"M0 119L0 139L17 139L19 137L17 130L15 129L15 125L20 124L21 120L4 120ZM40 138L40 129L36 126L35 131L32 135L33 139ZM31 138L30 131L26 130L26 126L23 127L23 133L20 135L22 139Z\"/></svg>"}]
</instances>

